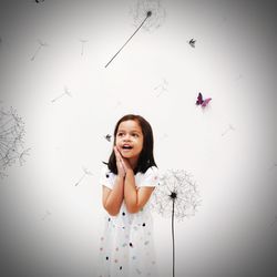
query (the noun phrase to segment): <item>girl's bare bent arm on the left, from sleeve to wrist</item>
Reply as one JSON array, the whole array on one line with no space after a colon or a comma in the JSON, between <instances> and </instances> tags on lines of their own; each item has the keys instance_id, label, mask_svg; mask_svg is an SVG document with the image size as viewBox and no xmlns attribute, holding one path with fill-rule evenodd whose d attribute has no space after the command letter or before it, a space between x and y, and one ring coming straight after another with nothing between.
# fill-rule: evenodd
<instances>
[{"instance_id":1,"label":"girl's bare bent arm on the left, from sleeve to wrist","mask_svg":"<svg viewBox=\"0 0 277 277\"><path fill-rule=\"evenodd\" d=\"M124 196L124 177L117 175L113 189L103 186L103 207L105 211L115 216L120 213L120 208Z\"/></svg>"}]
</instances>

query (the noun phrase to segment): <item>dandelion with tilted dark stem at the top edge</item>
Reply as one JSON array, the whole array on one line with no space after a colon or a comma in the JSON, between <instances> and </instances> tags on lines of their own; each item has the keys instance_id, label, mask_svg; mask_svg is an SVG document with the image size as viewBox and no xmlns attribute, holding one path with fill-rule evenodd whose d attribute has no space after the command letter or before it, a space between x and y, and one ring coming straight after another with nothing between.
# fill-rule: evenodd
<instances>
[{"instance_id":1,"label":"dandelion with tilted dark stem at the top edge","mask_svg":"<svg viewBox=\"0 0 277 277\"><path fill-rule=\"evenodd\" d=\"M162 24L162 13L165 14L165 10L162 9L158 0L138 0L136 2L134 12L134 23L137 27L134 33L127 39L127 41L121 47L121 49L113 55L113 58L106 63L105 68L115 59L115 57L122 51L122 49L131 41L131 39L138 32L141 28L151 30L158 28Z\"/></svg>"}]
</instances>

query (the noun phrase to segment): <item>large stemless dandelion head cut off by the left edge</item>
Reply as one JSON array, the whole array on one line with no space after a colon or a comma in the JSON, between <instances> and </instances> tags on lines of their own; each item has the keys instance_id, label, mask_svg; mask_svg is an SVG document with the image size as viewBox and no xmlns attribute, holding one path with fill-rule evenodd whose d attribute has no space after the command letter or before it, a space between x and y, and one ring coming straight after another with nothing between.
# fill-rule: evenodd
<instances>
[{"instance_id":1,"label":"large stemless dandelion head cut off by the left edge","mask_svg":"<svg viewBox=\"0 0 277 277\"><path fill-rule=\"evenodd\" d=\"M13 107L9 111L0 110L0 175L7 176L3 171L16 161L22 165L23 155L29 150L23 150L24 123Z\"/></svg>"}]
</instances>

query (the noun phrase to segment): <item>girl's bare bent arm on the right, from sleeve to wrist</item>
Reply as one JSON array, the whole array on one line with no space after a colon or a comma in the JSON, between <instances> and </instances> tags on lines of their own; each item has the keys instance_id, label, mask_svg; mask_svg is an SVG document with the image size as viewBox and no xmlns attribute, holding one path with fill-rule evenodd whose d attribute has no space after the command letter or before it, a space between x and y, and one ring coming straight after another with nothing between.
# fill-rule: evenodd
<instances>
[{"instance_id":1,"label":"girl's bare bent arm on the right, from sleeve to wrist","mask_svg":"<svg viewBox=\"0 0 277 277\"><path fill-rule=\"evenodd\" d=\"M136 189L134 172L132 168L127 168L124 181L124 201L127 212L137 213L147 203L154 188L144 186Z\"/></svg>"}]
</instances>

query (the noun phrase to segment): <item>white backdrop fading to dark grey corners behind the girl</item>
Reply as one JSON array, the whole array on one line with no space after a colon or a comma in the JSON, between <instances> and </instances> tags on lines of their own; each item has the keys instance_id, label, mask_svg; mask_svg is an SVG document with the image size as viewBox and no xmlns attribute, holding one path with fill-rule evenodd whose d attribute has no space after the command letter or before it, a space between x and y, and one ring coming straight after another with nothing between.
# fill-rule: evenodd
<instances>
[{"instance_id":1,"label":"white backdrop fading to dark grey corners behind the girl","mask_svg":"<svg viewBox=\"0 0 277 277\"><path fill-rule=\"evenodd\" d=\"M161 1L161 25L104 68L136 28L133 4L1 0L0 105L30 151L0 179L0 276L95 276L104 136L126 113L152 124L161 172L188 171L201 192L175 226L176 276L277 276L275 1ZM167 277L171 220L153 216Z\"/></svg>"}]
</instances>

